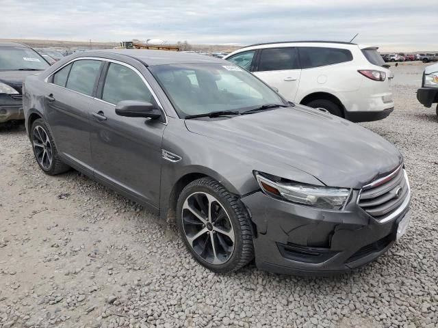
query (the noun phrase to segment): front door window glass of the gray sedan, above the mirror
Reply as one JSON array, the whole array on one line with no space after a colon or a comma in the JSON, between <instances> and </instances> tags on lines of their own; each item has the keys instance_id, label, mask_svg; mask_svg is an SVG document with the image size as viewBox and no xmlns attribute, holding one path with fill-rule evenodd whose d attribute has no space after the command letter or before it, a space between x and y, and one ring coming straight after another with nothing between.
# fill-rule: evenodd
<instances>
[{"instance_id":1,"label":"front door window glass of the gray sedan, above the mirror","mask_svg":"<svg viewBox=\"0 0 438 328\"><path fill-rule=\"evenodd\" d=\"M102 100L116 105L123 100L154 102L151 91L136 72L123 65L111 63L103 85Z\"/></svg>"}]
</instances>

